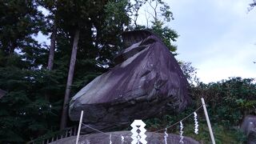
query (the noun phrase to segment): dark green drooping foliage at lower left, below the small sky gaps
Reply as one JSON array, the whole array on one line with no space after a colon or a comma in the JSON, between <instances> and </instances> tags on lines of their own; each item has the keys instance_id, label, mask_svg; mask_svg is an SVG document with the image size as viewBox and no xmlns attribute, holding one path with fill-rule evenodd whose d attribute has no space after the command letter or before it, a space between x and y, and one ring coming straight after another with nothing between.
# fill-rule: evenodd
<instances>
[{"instance_id":1,"label":"dark green drooping foliage at lower left, below the small sky gaps","mask_svg":"<svg viewBox=\"0 0 256 144\"><path fill-rule=\"evenodd\" d=\"M0 68L0 87L8 91L0 101L0 143L26 142L55 127L60 106L45 99L45 75L43 70Z\"/></svg>"}]
</instances>

